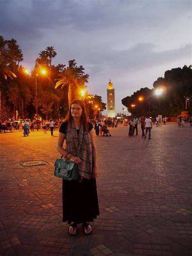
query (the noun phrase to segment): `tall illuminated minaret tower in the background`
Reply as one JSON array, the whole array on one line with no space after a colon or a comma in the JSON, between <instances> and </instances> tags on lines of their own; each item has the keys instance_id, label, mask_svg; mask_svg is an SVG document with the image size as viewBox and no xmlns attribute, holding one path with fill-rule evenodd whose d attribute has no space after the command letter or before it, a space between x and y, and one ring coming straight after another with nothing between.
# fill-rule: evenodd
<instances>
[{"instance_id":1,"label":"tall illuminated minaret tower in the background","mask_svg":"<svg viewBox=\"0 0 192 256\"><path fill-rule=\"evenodd\" d=\"M107 89L107 116L115 117L115 89L113 83L109 80L109 87Z\"/></svg>"}]
</instances>

